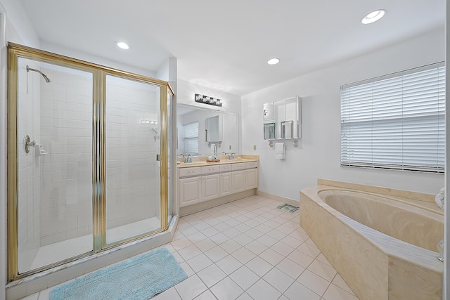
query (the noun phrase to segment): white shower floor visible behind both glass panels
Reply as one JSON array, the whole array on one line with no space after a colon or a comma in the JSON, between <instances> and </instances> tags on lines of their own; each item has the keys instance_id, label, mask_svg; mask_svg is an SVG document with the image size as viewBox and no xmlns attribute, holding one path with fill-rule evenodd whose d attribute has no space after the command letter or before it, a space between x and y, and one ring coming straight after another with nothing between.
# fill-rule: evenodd
<instances>
[{"instance_id":1,"label":"white shower floor visible behind both glass panels","mask_svg":"<svg viewBox=\"0 0 450 300\"><path fill-rule=\"evenodd\" d=\"M160 228L161 221L158 217L129 223L124 226L108 229L106 240L108 243L124 240L128 237L133 237L146 233L150 230ZM57 261L63 261L73 256L90 252L92 250L92 235L84 235L82 237L75 237L70 240L47 244L40 247L30 270L47 266Z\"/></svg>"}]
</instances>

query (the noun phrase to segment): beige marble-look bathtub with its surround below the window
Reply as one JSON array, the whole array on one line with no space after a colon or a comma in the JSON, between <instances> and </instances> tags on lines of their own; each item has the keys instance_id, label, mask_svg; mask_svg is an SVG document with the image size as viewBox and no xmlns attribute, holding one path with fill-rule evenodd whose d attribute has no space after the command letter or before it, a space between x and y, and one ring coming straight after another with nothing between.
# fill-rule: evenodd
<instances>
[{"instance_id":1,"label":"beige marble-look bathtub with its surround below the window","mask_svg":"<svg viewBox=\"0 0 450 300\"><path fill-rule=\"evenodd\" d=\"M300 224L359 299L442 299L433 195L318 183L300 193Z\"/></svg>"}]
</instances>

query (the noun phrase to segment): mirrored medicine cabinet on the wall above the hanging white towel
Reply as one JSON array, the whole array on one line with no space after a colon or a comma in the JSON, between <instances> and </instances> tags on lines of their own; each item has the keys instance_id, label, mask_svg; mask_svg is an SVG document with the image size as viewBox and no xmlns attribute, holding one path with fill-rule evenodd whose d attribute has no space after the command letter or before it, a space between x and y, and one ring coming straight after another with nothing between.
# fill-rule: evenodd
<instances>
[{"instance_id":1,"label":"mirrored medicine cabinet on the wall above the hanging white towel","mask_svg":"<svg viewBox=\"0 0 450 300\"><path fill-rule=\"evenodd\" d=\"M264 104L264 140L302 138L302 99L298 96Z\"/></svg>"}]
</instances>

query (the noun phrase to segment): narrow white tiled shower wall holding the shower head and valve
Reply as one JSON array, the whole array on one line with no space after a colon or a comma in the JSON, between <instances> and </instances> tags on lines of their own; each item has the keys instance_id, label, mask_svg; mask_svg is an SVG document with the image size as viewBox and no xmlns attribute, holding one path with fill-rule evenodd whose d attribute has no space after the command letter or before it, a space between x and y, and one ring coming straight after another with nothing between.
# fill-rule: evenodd
<instances>
[{"instance_id":1,"label":"narrow white tiled shower wall holding the shower head and valve","mask_svg":"<svg viewBox=\"0 0 450 300\"><path fill-rule=\"evenodd\" d=\"M35 63L34 63L35 64ZM34 148L25 152L24 138L40 140L39 131L39 81L37 74L27 73L25 66L37 67L30 60L19 62L19 103L18 103L18 249L19 270L29 270L39 249L39 202L40 183L39 157L34 156Z\"/></svg>"}]
</instances>

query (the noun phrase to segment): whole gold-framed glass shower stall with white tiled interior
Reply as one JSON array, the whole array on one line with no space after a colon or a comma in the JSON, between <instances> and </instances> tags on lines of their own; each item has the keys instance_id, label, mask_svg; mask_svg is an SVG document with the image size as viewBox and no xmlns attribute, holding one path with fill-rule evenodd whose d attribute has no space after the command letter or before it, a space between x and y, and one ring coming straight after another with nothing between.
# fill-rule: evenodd
<instances>
[{"instance_id":1,"label":"whole gold-framed glass shower stall with white tiled interior","mask_svg":"<svg viewBox=\"0 0 450 300\"><path fill-rule=\"evenodd\" d=\"M8 46L8 278L167 229L165 81Z\"/></svg>"}]
</instances>

